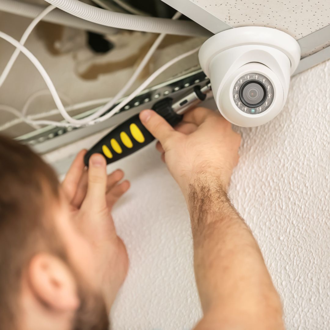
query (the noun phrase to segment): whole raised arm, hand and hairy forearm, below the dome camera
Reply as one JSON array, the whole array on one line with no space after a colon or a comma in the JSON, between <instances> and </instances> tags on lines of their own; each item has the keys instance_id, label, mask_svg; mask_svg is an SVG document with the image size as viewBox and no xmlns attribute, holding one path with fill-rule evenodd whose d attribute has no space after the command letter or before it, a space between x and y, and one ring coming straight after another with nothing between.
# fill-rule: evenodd
<instances>
[{"instance_id":1,"label":"whole raised arm, hand and hairy forearm, below the dome camera","mask_svg":"<svg viewBox=\"0 0 330 330\"><path fill-rule=\"evenodd\" d=\"M187 113L175 129L151 110L140 119L159 140L187 202L204 312L195 330L282 330L281 301L258 244L226 193L240 136L204 108Z\"/></svg>"}]
</instances>

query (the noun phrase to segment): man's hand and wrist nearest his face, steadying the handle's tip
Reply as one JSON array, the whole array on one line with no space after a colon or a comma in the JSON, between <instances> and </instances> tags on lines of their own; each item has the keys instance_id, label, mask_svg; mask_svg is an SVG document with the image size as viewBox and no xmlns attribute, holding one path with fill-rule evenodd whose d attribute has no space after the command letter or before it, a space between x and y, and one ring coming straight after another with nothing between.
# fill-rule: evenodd
<instances>
[{"instance_id":1,"label":"man's hand and wrist nearest his face, steadying the handle's tip","mask_svg":"<svg viewBox=\"0 0 330 330\"><path fill-rule=\"evenodd\" d=\"M122 240L117 236L110 214L116 201L128 190L129 182L119 183L121 170L107 175L106 160L94 154L85 168L82 150L74 160L62 188L69 200L73 221L88 242L93 266L90 277L104 295L108 310L127 272L128 257ZM87 258L87 256L82 256Z\"/></svg>"}]
</instances>

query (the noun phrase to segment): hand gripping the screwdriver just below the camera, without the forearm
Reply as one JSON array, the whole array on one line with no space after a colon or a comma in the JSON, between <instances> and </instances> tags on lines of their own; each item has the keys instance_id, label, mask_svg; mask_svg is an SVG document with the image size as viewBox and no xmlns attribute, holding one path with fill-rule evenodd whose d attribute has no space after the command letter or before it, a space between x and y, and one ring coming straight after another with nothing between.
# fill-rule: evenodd
<instances>
[{"instance_id":1,"label":"hand gripping the screwdriver just below the camera, without the forearm","mask_svg":"<svg viewBox=\"0 0 330 330\"><path fill-rule=\"evenodd\" d=\"M159 140L156 148L185 196L189 184L203 176L216 178L227 189L241 143L227 120L205 108L185 114L175 129L152 110L141 112L140 119Z\"/></svg>"}]
</instances>

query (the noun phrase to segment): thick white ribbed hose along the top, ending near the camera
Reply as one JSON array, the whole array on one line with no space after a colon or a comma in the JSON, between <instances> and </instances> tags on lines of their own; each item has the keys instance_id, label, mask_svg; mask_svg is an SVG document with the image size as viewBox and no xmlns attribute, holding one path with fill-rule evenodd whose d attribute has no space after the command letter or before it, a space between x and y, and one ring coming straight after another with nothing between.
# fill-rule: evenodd
<instances>
[{"instance_id":1,"label":"thick white ribbed hose along the top, ending near the camera","mask_svg":"<svg viewBox=\"0 0 330 330\"><path fill-rule=\"evenodd\" d=\"M63 11L97 24L120 29L185 36L210 36L210 31L192 21L114 13L79 0L45 0Z\"/></svg>"}]
</instances>

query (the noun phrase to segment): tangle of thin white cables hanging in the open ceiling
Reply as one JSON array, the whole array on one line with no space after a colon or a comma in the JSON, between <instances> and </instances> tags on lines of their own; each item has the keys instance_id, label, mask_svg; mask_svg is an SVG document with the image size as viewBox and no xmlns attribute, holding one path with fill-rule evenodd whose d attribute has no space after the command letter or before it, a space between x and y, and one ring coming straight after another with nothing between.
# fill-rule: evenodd
<instances>
[{"instance_id":1,"label":"tangle of thin white cables hanging in the open ceiling","mask_svg":"<svg viewBox=\"0 0 330 330\"><path fill-rule=\"evenodd\" d=\"M137 80L137 78L141 74L142 70L144 69L144 67L147 65L150 58L152 57L153 53L155 52L155 50L158 48L160 43L165 38L166 34L161 33L157 37L157 39L155 40L153 45L150 47L149 51L147 52L147 54L145 55L145 57L143 58L143 60L141 61L141 63L137 67L137 69L135 70L134 74L129 79L129 81L115 95L115 97L113 97L111 99L108 99L108 102L104 106L102 106L98 110L96 110L92 115L84 117L82 119L75 119L75 118L71 117L68 114L68 111L75 110L75 109L77 109L77 107L79 109L79 106L81 106L81 107L86 106L86 102L84 102L80 105L75 105L75 106L65 108L63 106L61 98L59 97L58 92L56 91L55 86L54 86L53 82L51 81L49 75L47 74L45 68L41 65L41 63L38 61L38 59L31 53L31 51L29 51L24 46L24 43L26 42L27 38L31 34L34 27L38 24L38 22L41 21L47 14L49 14L55 8L56 8L55 6L50 5L46 9L44 9L31 22L31 24L28 26L28 28L23 33L22 38L20 39L19 42L17 40L15 40L14 38L12 38L11 36L9 36L8 34L0 31L0 38L8 41L10 44L12 44L13 46L16 47L16 50L14 51L13 55L11 56L11 58L8 61L4 71L2 72L2 74L0 76L0 87L2 86L4 81L6 80L11 68L13 67L13 65L16 61L17 56L19 55L20 52L22 52L34 64L34 66L40 72L41 76L43 77L44 81L46 82L46 85L49 89L49 92L50 92L50 94L51 94L51 96L52 96L52 98L55 102L55 105L57 107L57 109L55 111L59 112L63 116L63 118L65 119L66 122L57 122L57 121L51 121L51 120L33 120L31 118L27 118L25 116L25 111L26 111L26 108L27 108L26 105L23 107L22 113L20 113L16 109L13 109L10 106L0 105L0 109L5 110L5 111L9 111L9 112L13 113L14 115L16 115L17 117L19 117L14 124L16 124L18 122L21 122L21 121L24 121L24 122L28 123L29 125L31 125L32 127L37 128L38 126L36 126L36 125L53 125L53 126L58 126L58 127L81 127L81 126L93 125L93 124L102 122L106 119L109 119L110 117L112 117L117 112L119 112L120 109L122 109L122 107L124 107L128 102L130 102L134 97L136 97L141 91L143 91L143 89L145 89L157 76L159 76L167 68L169 68L174 63L180 61L181 59L195 53L199 49L199 47L198 47L196 49L190 50L186 53L183 53L183 54L175 57L174 59L170 60L168 63L164 64L162 67L160 67L158 70L156 70L146 81L144 81L135 91L133 91L122 102L120 102L114 109L112 109L110 112L105 114L109 109L111 109L114 106L114 104L119 99L121 99L126 94L126 92L130 89L130 87L133 85L133 83ZM178 19L180 16L181 16L181 14L179 12L177 12L172 17L172 19ZM28 103L30 101L31 100L28 100ZM90 101L89 104L90 105L101 104L104 101L105 101L104 99L103 100L93 100L93 101ZM54 113L54 110L51 111L50 113ZM45 113L43 115L47 116L50 113ZM1 129L6 129L6 128L8 128L8 125L5 124L5 125L2 125L0 127L0 130Z\"/></svg>"}]
</instances>

